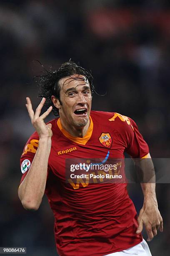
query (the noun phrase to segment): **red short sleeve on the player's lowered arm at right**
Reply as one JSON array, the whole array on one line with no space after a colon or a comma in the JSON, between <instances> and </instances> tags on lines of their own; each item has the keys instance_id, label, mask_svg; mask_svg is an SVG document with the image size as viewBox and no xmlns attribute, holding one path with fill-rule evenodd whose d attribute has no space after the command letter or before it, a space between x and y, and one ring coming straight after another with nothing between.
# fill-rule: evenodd
<instances>
[{"instance_id":1,"label":"red short sleeve on the player's lowered arm at right","mask_svg":"<svg viewBox=\"0 0 170 256\"><path fill-rule=\"evenodd\" d=\"M133 133L129 136L128 146L125 151L133 158L142 158L149 153L148 144L139 132L137 124L131 118L129 120Z\"/></svg>"}]
</instances>

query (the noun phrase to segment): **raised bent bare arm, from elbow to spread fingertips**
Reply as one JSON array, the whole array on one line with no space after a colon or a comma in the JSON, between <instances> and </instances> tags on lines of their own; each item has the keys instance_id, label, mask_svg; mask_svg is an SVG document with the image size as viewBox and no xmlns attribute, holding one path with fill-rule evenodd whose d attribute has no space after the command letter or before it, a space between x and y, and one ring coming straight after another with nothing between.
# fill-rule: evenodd
<instances>
[{"instance_id":1,"label":"raised bent bare arm, from elbow to spread fingertips","mask_svg":"<svg viewBox=\"0 0 170 256\"><path fill-rule=\"evenodd\" d=\"M48 158L51 150L52 125L46 125L44 123L44 119L51 112L52 107L40 115L41 109L45 103L45 98L42 98L42 101L38 105L35 113L32 110L30 98L27 97L26 99L26 107L28 109L32 125L35 127L40 140L37 152L30 169L28 170L28 174L18 189L18 196L25 209L37 210L45 191Z\"/></svg>"}]
</instances>

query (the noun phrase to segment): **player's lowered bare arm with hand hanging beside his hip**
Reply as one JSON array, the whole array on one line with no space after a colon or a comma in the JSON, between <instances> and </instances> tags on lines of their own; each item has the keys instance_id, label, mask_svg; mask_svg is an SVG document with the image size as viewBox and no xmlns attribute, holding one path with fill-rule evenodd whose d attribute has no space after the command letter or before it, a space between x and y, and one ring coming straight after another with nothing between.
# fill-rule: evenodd
<instances>
[{"instance_id":1,"label":"player's lowered bare arm with hand hanging beside his hip","mask_svg":"<svg viewBox=\"0 0 170 256\"><path fill-rule=\"evenodd\" d=\"M150 154L149 154L150 158ZM163 232L163 218L160 215L158 210L158 202L156 199L155 193L155 171L152 167L152 160L145 161L144 165L141 163L141 170L143 172L148 172L148 177L145 177L146 183L141 183L141 187L143 190L144 202L143 207L140 210L140 214L138 216L138 229L136 233L140 233L143 230L143 225L145 225L145 229L148 235L147 241L151 241L154 236L157 235L158 230ZM142 160L143 161L143 160ZM147 166L148 165L148 166Z\"/></svg>"}]
</instances>

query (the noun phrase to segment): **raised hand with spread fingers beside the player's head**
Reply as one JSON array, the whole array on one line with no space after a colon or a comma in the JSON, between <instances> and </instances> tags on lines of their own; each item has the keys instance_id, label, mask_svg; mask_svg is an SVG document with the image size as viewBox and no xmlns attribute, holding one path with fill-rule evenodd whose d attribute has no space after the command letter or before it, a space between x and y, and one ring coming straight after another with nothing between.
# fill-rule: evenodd
<instances>
[{"instance_id":1,"label":"raised hand with spread fingers beside the player's head","mask_svg":"<svg viewBox=\"0 0 170 256\"><path fill-rule=\"evenodd\" d=\"M47 111L45 111L45 113L43 113L42 115L40 115L42 107L45 103L45 98L42 98L40 104L37 106L37 109L35 110L35 113L32 109L32 104L31 104L31 100L29 97L26 97L27 100L27 110L28 110L28 114L30 116L31 119L31 123L34 126L35 130L37 131L39 138L47 138L47 137L51 137L52 136L52 124L45 124L44 123L44 119L47 117L47 115L50 114L51 110L52 110L52 106L50 106L50 108L47 109Z\"/></svg>"}]
</instances>

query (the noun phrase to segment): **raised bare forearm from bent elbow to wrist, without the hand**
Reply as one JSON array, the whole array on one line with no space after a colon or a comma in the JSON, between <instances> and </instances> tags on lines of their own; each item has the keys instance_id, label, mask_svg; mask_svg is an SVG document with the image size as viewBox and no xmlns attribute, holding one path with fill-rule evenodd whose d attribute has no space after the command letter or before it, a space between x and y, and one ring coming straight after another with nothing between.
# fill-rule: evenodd
<instances>
[{"instance_id":1,"label":"raised bare forearm from bent elbow to wrist, without the hand","mask_svg":"<svg viewBox=\"0 0 170 256\"><path fill-rule=\"evenodd\" d=\"M20 184L18 195L25 209L37 210L40 206L45 191L50 149L51 138L39 140L28 174Z\"/></svg>"}]
</instances>

